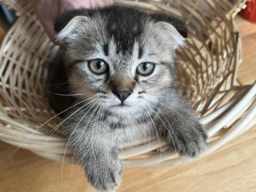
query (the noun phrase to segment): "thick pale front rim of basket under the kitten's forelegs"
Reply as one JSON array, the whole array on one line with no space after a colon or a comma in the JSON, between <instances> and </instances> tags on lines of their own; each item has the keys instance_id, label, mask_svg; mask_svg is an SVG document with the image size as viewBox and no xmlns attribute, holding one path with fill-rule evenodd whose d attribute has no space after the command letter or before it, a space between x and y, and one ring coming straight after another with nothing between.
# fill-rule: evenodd
<instances>
[{"instance_id":1,"label":"thick pale front rim of basket under the kitten's forelegs","mask_svg":"<svg viewBox=\"0 0 256 192\"><path fill-rule=\"evenodd\" d=\"M8 31L2 45L8 42L8 36L10 36L11 33L11 30ZM4 49L2 45L0 52ZM232 84L234 85L235 82ZM234 86L232 88L234 88ZM253 118L256 116L256 81L252 85L239 86L239 88L244 91L244 94L237 95L237 97L234 97L234 99L230 100L225 105L202 117L201 122L204 125L217 121L216 124L209 127L209 137L218 134L222 127L230 127L230 125L232 125L239 117L241 118L234 127L228 129L228 131L223 134L220 140L209 143L205 152L200 157L220 148L227 143L227 141L239 136L239 134L242 134L256 124L256 120L253 121ZM67 143L65 138L58 136L49 138L47 134L32 129L29 125L24 124L24 122L6 116L3 113L3 110L0 111L0 120L8 124L0 124L0 140L10 143L11 145L16 145L17 147L27 148L35 154L46 157L47 159L60 162L65 160L67 163L73 163L74 159L71 156L72 151L64 150L66 146L65 144ZM244 127L246 127L246 129L244 129ZM33 136L31 136L31 134L33 134ZM26 140L22 140L22 137L26 138ZM46 144L44 143L45 141L47 141ZM44 144L44 147L42 147L42 143ZM152 156L147 159L125 160L129 157L133 157L134 154L136 156L147 154L147 152L152 152L152 150L156 150L159 147L164 147L165 144L164 141L160 141L160 144L158 141L152 141L150 145L147 144L147 146L138 145L135 148L125 148L120 152L120 159L123 159L122 162L125 167L136 168L159 168L161 166L173 166L180 163L195 161L195 159L188 159L187 157L179 157L179 159L177 159L177 154L170 152L170 150L161 152L161 159ZM67 154L67 157L64 156L65 159L63 154Z\"/></svg>"}]
</instances>

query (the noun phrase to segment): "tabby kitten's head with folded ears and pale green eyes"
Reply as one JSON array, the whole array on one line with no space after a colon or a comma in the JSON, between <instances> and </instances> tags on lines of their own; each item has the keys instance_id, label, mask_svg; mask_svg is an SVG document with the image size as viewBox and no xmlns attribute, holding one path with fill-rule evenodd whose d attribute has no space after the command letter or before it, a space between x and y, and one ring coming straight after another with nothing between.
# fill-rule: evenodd
<instances>
[{"instance_id":1,"label":"tabby kitten's head with folded ears and pale green eyes","mask_svg":"<svg viewBox=\"0 0 256 192\"><path fill-rule=\"evenodd\" d=\"M170 88L175 49L187 36L180 20L123 6L67 12L55 26L72 90L118 114L145 108Z\"/></svg>"}]
</instances>

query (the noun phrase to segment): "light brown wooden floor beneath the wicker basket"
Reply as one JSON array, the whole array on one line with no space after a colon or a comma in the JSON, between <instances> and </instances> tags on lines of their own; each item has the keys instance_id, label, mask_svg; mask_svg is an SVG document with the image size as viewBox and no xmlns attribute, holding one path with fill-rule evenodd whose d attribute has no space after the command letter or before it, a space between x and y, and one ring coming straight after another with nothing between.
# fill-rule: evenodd
<instances>
[{"instance_id":1,"label":"light brown wooden floor beneath the wicker basket","mask_svg":"<svg viewBox=\"0 0 256 192\"><path fill-rule=\"evenodd\" d=\"M236 18L243 39L239 81L256 79L256 24ZM0 29L0 40L3 37ZM0 142L1 192L80 192L89 188L79 166L42 159ZM62 177L62 179L61 179ZM124 170L118 191L256 191L256 127L199 161L161 170Z\"/></svg>"}]
</instances>

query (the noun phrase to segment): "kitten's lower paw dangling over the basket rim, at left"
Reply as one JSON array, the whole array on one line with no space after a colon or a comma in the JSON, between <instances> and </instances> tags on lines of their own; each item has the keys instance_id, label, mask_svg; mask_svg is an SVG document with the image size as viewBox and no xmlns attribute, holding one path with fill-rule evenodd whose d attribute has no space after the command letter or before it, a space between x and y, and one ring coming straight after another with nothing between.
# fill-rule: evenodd
<instances>
[{"instance_id":1,"label":"kitten's lower paw dangling over the basket rim, at left","mask_svg":"<svg viewBox=\"0 0 256 192\"><path fill-rule=\"evenodd\" d=\"M100 191L115 191L122 178L122 164L120 161L111 164L92 164L86 174L93 187Z\"/></svg>"}]
</instances>

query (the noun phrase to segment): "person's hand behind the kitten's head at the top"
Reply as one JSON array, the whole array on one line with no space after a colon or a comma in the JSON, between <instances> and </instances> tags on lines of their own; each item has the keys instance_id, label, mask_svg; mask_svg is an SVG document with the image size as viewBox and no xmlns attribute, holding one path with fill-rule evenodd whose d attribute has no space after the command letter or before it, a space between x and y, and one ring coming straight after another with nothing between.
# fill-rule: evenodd
<instances>
[{"instance_id":1,"label":"person's hand behind the kitten's head at the top","mask_svg":"<svg viewBox=\"0 0 256 192\"><path fill-rule=\"evenodd\" d=\"M74 10L77 8L97 8L108 6L111 0L30 0L36 17L41 22L45 32L56 43L56 34L54 32L54 17L61 12Z\"/></svg>"}]
</instances>

